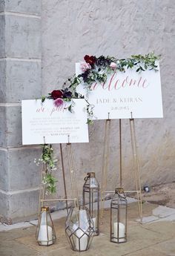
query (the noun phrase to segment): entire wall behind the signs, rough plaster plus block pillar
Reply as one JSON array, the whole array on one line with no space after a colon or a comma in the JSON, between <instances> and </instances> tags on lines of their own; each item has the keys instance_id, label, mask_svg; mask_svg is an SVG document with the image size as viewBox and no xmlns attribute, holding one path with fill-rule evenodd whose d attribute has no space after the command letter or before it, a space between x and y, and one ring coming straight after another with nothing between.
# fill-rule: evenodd
<instances>
[{"instance_id":1,"label":"entire wall behind the signs, rough plaster plus block pillar","mask_svg":"<svg viewBox=\"0 0 175 256\"><path fill-rule=\"evenodd\" d=\"M21 100L62 88L85 54L162 54L164 118L136 119L136 136L142 186L175 181L174 17L175 1L169 0L42 0L42 7L41 0L0 0L0 214L7 223L27 220L37 211L39 168L33 159L41 151L22 146ZM100 180L104 130L105 121L96 121L89 127L90 143L72 145L79 194L87 171L96 171ZM122 120L122 134L123 181L133 189L128 120ZM59 146L55 148L57 196L63 197ZM65 145L63 153L71 196ZM113 120L108 189L118 183L119 121Z\"/></svg>"}]
</instances>

